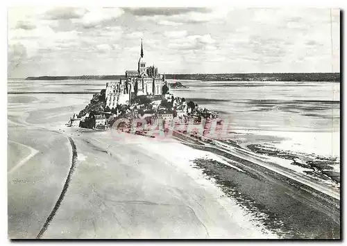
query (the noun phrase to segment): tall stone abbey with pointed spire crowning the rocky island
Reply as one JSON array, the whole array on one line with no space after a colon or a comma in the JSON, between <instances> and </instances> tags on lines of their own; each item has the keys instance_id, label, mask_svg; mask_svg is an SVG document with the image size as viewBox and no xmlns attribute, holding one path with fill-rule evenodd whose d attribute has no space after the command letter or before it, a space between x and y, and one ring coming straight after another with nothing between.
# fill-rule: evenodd
<instances>
[{"instance_id":1,"label":"tall stone abbey with pointed spire crowning the rocky island","mask_svg":"<svg viewBox=\"0 0 347 246\"><path fill-rule=\"evenodd\" d=\"M113 109L119 104L130 105L131 94L140 95L161 95L162 86L165 83L165 75L158 73L158 68L146 67L144 61L144 50L141 41L141 53L137 70L127 70L126 77L119 82L108 82L106 84L106 106Z\"/></svg>"}]
</instances>

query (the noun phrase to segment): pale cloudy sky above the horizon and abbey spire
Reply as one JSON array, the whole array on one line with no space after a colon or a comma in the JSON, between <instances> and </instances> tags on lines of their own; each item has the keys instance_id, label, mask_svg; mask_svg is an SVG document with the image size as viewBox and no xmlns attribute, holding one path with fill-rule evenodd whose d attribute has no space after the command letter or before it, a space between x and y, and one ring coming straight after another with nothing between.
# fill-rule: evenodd
<instances>
[{"instance_id":1,"label":"pale cloudy sky above the horizon and abbey spire","mask_svg":"<svg viewBox=\"0 0 347 246\"><path fill-rule=\"evenodd\" d=\"M339 72L339 10L9 8L8 78Z\"/></svg>"}]
</instances>

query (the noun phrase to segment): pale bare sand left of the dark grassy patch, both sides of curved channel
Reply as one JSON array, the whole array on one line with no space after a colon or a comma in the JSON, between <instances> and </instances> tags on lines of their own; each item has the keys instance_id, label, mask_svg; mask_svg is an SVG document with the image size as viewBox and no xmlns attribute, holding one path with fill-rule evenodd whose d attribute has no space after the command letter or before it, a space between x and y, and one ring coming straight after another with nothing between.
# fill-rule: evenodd
<instances>
[{"instance_id":1,"label":"pale bare sand left of the dark grassy patch, both sides of curved channel","mask_svg":"<svg viewBox=\"0 0 347 246\"><path fill-rule=\"evenodd\" d=\"M38 151L8 174L10 238L278 237L190 166L216 155L174 139L115 139L110 131L66 128L71 100L59 96L42 104L46 96L35 97L31 105L8 107L8 139ZM77 161L67 179L69 137Z\"/></svg>"}]
</instances>

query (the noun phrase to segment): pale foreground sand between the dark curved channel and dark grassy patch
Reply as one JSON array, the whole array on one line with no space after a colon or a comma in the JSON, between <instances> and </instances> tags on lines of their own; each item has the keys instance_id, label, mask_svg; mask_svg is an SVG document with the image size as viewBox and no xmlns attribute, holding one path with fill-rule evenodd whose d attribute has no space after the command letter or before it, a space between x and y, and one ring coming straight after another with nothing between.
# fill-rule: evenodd
<instances>
[{"instance_id":1,"label":"pale foreground sand between the dark curved channel and dark grassy patch","mask_svg":"<svg viewBox=\"0 0 347 246\"><path fill-rule=\"evenodd\" d=\"M189 165L205 152L174 140L82 132L71 135L78 164L42 238L277 237Z\"/></svg>"}]
</instances>

